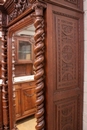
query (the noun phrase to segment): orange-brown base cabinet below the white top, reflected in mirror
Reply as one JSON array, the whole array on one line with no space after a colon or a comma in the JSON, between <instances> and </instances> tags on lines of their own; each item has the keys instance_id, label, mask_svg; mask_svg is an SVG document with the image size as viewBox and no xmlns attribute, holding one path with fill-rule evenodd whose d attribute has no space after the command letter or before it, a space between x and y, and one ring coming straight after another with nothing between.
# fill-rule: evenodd
<instances>
[{"instance_id":1,"label":"orange-brown base cabinet below the white top, reflected in mirror","mask_svg":"<svg viewBox=\"0 0 87 130\"><path fill-rule=\"evenodd\" d=\"M15 83L16 120L35 114L35 82Z\"/></svg>"}]
</instances>

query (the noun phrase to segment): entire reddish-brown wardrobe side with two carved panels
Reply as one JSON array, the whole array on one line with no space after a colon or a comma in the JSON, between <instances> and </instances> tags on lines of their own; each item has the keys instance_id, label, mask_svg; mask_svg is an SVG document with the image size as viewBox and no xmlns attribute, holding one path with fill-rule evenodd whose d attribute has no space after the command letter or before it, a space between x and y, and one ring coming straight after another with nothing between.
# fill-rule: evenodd
<instances>
[{"instance_id":1,"label":"entire reddish-brown wardrobe side with two carved panels","mask_svg":"<svg viewBox=\"0 0 87 130\"><path fill-rule=\"evenodd\" d=\"M47 130L82 130L84 59L82 25L82 14L77 11L48 5Z\"/></svg>"}]
</instances>

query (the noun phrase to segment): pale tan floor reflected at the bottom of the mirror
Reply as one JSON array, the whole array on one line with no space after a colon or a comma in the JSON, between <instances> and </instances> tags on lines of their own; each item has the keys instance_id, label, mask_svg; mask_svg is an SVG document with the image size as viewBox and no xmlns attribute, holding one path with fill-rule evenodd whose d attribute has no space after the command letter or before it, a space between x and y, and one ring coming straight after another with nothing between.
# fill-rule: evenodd
<instances>
[{"instance_id":1,"label":"pale tan floor reflected at the bottom of the mirror","mask_svg":"<svg viewBox=\"0 0 87 130\"><path fill-rule=\"evenodd\" d=\"M36 119L34 116L22 119L17 122L17 128L19 130L35 130Z\"/></svg>"}]
</instances>

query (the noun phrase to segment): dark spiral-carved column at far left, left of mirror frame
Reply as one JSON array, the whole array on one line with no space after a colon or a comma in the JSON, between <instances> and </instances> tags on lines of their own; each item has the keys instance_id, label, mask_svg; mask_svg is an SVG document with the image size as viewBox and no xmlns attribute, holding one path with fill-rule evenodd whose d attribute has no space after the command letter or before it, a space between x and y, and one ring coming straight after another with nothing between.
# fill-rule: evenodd
<instances>
[{"instance_id":1,"label":"dark spiral-carved column at far left, left of mirror frame","mask_svg":"<svg viewBox=\"0 0 87 130\"><path fill-rule=\"evenodd\" d=\"M7 74L7 32L2 31L2 107L3 130L9 129L8 74Z\"/></svg>"}]
</instances>

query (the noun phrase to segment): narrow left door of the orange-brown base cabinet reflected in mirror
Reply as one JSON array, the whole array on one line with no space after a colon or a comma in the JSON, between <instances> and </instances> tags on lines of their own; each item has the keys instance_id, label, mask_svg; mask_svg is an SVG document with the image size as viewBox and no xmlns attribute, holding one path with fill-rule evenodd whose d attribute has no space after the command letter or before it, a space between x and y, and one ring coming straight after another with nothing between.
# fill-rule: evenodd
<instances>
[{"instance_id":1,"label":"narrow left door of the orange-brown base cabinet reflected in mirror","mask_svg":"<svg viewBox=\"0 0 87 130\"><path fill-rule=\"evenodd\" d=\"M16 89L16 119L21 117L21 90Z\"/></svg>"}]
</instances>

